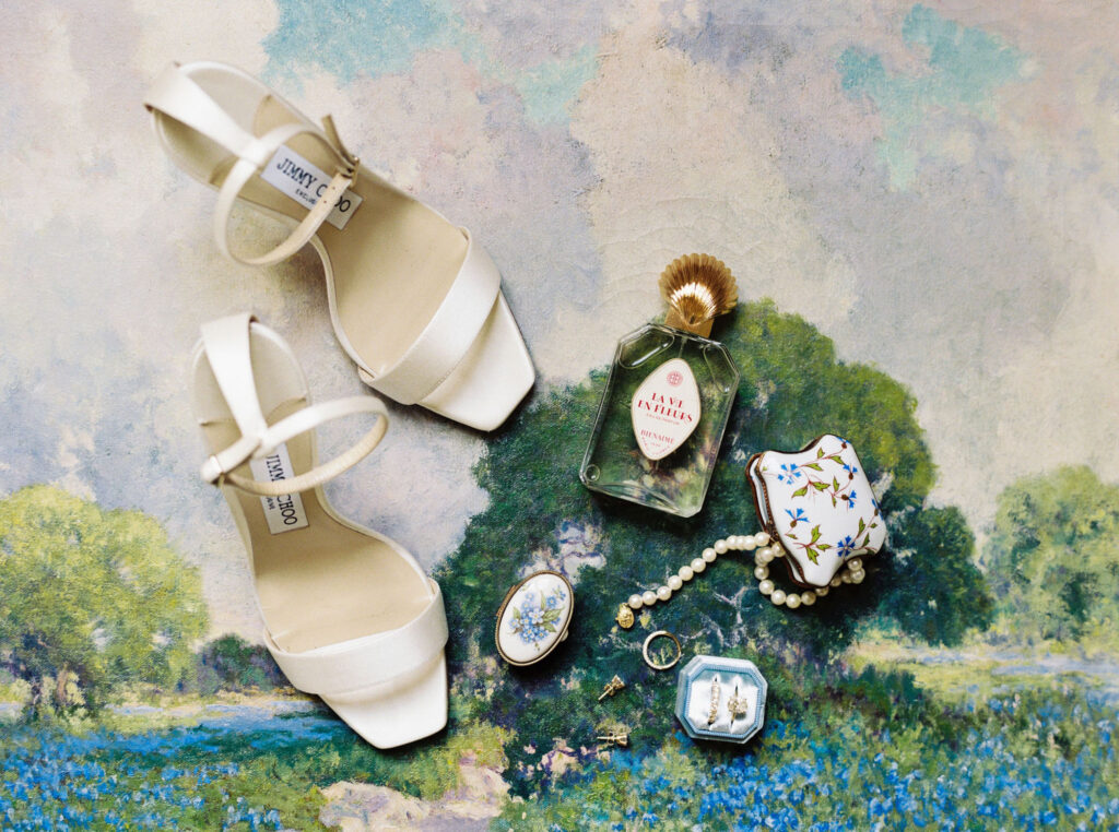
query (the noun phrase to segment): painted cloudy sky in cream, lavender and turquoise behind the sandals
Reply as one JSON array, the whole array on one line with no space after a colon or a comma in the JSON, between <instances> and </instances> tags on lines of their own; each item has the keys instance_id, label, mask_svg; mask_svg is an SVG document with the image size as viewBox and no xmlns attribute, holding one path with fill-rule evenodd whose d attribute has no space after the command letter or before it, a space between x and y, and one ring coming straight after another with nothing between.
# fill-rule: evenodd
<instances>
[{"instance_id":1,"label":"painted cloudy sky in cream, lavender and turquoise behind the sandals","mask_svg":"<svg viewBox=\"0 0 1119 832\"><path fill-rule=\"evenodd\" d=\"M741 294L909 386L932 499L977 531L1017 476L1117 480L1113 3L44 0L0 21L0 493L53 482L156 516L201 565L215 631L257 625L196 474L198 325L253 309L317 397L360 386L312 257L217 254L213 192L140 107L171 59L235 63L333 113L363 159L470 227L540 388L605 363L660 311L665 263L707 250ZM431 565L486 505L485 441L393 414L331 494Z\"/></svg>"}]
</instances>

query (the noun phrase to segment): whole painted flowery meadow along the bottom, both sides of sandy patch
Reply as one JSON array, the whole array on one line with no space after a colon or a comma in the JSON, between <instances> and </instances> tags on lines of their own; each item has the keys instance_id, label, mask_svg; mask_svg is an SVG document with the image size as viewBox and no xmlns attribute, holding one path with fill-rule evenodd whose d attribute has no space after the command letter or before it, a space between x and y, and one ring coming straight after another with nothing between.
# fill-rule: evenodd
<instances>
[{"instance_id":1,"label":"whole painted flowery meadow along the bottom, both sides of sandy patch","mask_svg":"<svg viewBox=\"0 0 1119 832\"><path fill-rule=\"evenodd\" d=\"M848 674L815 680L807 703L786 701L790 680L774 680L763 735L744 750L676 732L651 754L576 754L527 798L508 800L492 825L1119 829L1119 700L1097 678L895 661L919 675L855 656ZM0 740L4 830L322 829L320 788L331 783L377 783L438 804L457 790L464 758L501 769L517 741L460 724L385 754L312 703L263 698L186 713L126 709L84 730L9 724Z\"/></svg>"}]
</instances>

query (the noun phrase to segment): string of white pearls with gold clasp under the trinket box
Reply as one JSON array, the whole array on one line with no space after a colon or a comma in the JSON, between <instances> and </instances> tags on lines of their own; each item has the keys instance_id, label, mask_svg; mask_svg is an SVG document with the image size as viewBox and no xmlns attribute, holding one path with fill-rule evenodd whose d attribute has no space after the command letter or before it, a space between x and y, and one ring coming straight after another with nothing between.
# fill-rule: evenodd
<instances>
[{"instance_id":1,"label":"string of white pearls with gold clasp under the trinket box","mask_svg":"<svg viewBox=\"0 0 1119 832\"><path fill-rule=\"evenodd\" d=\"M796 609L801 605L811 606L817 598L827 595L831 587L838 587L843 584L862 584L866 578L862 559L852 558L844 564L844 571L831 578L828 586L787 593L783 589L778 589L769 577L769 565L774 558L784 557L781 543L775 540L771 541L769 533L764 531L759 531L756 535L731 535L725 539L716 540L704 549L699 557L692 560L690 564L681 566L661 586L631 595L618 611L618 623L629 630L633 625L633 611L651 607L658 601L668 601L673 597L673 593L679 592L684 587L685 583L706 569L708 564L714 564L720 555L725 555L728 551L753 551L754 577L759 582L758 592L769 596L774 606L783 605L789 609Z\"/></svg>"}]
</instances>

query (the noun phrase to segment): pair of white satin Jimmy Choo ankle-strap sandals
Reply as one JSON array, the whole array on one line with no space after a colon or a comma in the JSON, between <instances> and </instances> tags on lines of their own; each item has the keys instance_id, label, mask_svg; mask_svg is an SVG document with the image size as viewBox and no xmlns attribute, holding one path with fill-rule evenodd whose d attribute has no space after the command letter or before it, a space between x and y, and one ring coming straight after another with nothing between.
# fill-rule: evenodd
<instances>
[{"instance_id":1,"label":"pair of white satin Jimmy Choo ankle-strap sandals","mask_svg":"<svg viewBox=\"0 0 1119 832\"><path fill-rule=\"evenodd\" d=\"M172 65L144 100L168 154L218 189L215 236L267 265L310 244L330 316L361 379L464 425L500 425L533 386L500 274L470 234L378 178L267 86L216 63ZM273 250L234 254L237 201L293 229ZM377 446L379 399L312 405L299 361L251 314L203 327L194 407L248 551L264 643L291 683L366 740L392 748L446 724L448 630L439 585L399 543L339 517L321 485ZM314 428L364 414L372 429L319 464Z\"/></svg>"}]
</instances>

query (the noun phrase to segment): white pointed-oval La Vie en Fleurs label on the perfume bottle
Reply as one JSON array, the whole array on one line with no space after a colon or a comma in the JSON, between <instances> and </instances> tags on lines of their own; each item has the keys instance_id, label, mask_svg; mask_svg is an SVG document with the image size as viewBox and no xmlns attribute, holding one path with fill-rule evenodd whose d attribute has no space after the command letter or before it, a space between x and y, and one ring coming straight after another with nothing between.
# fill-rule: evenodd
<instances>
[{"instance_id":1,"label":"white pointed-oval La Vie en Fleurs label on the perfume bottle","mask_svg":"<svg viewBox=\"0 0 1119 832\"><path fill-rule=\"evenodd\" d=\"M699 388L687 361L665 361L641 382L630 401L633 435L649 460L662 460L699 424Z\"/></svg>"}]
</instances>

